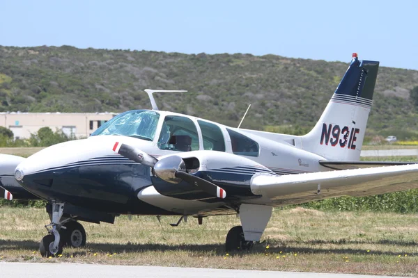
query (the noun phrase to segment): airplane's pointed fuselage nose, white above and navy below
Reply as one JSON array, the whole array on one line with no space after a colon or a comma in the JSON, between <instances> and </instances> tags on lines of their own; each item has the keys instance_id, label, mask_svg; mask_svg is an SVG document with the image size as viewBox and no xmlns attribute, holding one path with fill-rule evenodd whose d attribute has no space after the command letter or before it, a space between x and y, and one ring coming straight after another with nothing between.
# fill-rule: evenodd
<instances>
[{"instance_id":1,"label":"airplane's pointed fuselage nose, white above and navy below","mask_svg":"<svg viewBox=\"0 0 418 278\"><path fill-rule=\"evenodd\" d=\"M143 165L116 154L113 147L118 141L149 149L152 142L122 136L94 137L42 149L17 165L15 179L42 199L83 205L92 199L126 202L132 184L149 185L149 168L147 172Z\"/></svg>"}]
</instances>

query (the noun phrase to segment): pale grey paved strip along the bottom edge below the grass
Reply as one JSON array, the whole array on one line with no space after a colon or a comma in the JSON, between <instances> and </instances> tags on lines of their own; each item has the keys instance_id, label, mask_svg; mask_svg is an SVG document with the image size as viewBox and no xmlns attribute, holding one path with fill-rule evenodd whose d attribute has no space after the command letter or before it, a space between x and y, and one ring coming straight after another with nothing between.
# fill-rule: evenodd
<instances>
[{"instance_id":1,"label":"pale grey paved strip along the bottom edge below the grass","mask_svg":"<svg viewBox=\"0 0 418 278\"><path fill-rule=\"evenodd\" d=\"M77 263L0 263L1 278L74 278L74 277L101 277L101 278L378 278L393 276L348 275L335 273L309 273L309 272L280 272L261 270L222 270L213 268L169 268L160 266L134 266L134 265L91 265ZM403 277L405 278L405 277Z\"/></svg>"}]
</instances>

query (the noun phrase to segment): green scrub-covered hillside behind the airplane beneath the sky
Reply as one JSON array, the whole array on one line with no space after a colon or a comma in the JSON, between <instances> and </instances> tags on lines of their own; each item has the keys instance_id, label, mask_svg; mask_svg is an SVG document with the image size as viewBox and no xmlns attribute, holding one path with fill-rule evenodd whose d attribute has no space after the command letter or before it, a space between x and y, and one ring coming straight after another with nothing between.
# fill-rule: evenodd
<instances>
[{"instance_id":1,"label":"green scrub-covered hillside behind the airplane beneath the sky","mask_svg":"<svg viewBox=\"0 0 418 278\"><path fill-rule=\"evenodd\" d=\"M0 46L0 111L121 112L150 108L146 88L181 89L189 92L158 95L160 109L236 126L251 103L244 127L312 126L349 61L350 54L346 63L331 63L273 55ZM409 101L415 85L418 71L380 67L369 130L383 136L416 131L417 112Z\"/></svg>"}]
</instances>

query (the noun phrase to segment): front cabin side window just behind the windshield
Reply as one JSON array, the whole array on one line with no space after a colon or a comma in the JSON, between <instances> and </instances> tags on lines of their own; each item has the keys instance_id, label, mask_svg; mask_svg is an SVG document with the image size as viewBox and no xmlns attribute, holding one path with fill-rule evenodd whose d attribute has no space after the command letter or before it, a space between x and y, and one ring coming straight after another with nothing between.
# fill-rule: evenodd
<instances>
[{"instance_id":1,"label":"front cabin side window just behind the windshield","mask_svg":"<svg viewBox=\"0 0 418 278\"><path fill-rule=\"evenodd\" d=\"M165 117L158 139L158 147L179 152L198 150L199 136L194 122L188 117Z\"/></svg>"}]
</instances>

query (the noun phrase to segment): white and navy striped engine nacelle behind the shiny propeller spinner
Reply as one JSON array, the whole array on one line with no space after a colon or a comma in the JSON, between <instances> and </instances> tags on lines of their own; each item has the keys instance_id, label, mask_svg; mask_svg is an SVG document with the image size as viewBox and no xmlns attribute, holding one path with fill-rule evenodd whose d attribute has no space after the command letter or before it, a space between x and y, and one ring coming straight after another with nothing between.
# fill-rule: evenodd
<instances>
[{"instance_id":1,"label":"white and navy striped engine nacelle behind the shiny propeller spinner","mask_svg":"<svg viewBox=\"0 0 418 278\"><path fill-rule=\"evenodd\" d=\"M203 192L193 183L176 177L177 171L188 172L196 177L215 183L226 192L226 199L258 197L251 192L250 181L254 174L274 174L263 165L243 156L215 151L194 151L163 156L155 164L152 177L155 190L161 195L179 199L219 201Z\"/></svg>"}]
</instances>

